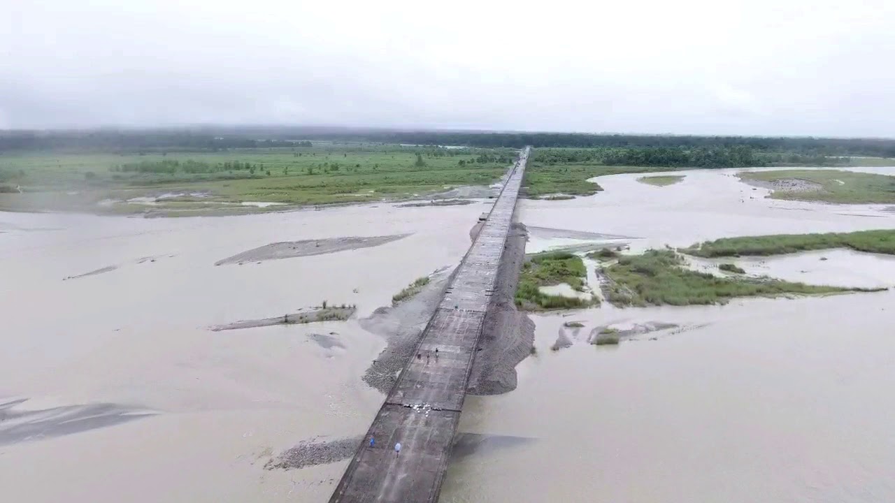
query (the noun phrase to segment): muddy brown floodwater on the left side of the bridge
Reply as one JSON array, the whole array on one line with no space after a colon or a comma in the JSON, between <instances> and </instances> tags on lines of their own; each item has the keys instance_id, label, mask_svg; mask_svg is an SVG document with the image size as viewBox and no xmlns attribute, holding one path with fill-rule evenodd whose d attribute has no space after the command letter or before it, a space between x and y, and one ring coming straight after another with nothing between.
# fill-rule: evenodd
<instances>
[{"instance_id":1,"label":"muddy brown floodwater on the left side of the bridge","mask_svg":"<svg viewBox=\"0 0 895 503\"><path fill-rule=\"evenodd\" d=\"M263 465L302 440L366 431L383 396L361 377L385 341L356 319L208 328L324 300L369 316L456 264L481 212L0 213L0 501L326 501L347 461ZM388 234L410 235L214 265L268 243Z\"/></svg>"}]
</instances>

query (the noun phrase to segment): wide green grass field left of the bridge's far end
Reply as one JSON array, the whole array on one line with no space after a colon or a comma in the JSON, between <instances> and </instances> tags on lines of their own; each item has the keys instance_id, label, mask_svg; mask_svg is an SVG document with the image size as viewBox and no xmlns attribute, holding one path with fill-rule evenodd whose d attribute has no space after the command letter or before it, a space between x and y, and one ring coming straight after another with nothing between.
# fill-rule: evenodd
<instances>
[{"instance_id":1,"label":"wide green grass field left of the bridge's far end","mask_svg":"<svg viewBox=\"0 0 895 503\"><path fill-rule=\"evenodd\" d=\"M150 208L405 199L494 183L515 158L512 149L339 145L147 155L4 154L0 209L140 212L147 206L99 202L161 194L176 196Z\"/></svg>"}]
</instances>

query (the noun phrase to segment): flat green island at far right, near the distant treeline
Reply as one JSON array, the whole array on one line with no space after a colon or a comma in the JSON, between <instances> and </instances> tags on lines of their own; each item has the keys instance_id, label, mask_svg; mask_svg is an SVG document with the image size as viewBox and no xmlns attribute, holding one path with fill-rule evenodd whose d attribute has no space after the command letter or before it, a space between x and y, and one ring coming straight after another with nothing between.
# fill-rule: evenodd
<instances>
[{"instance_id":1,"label":"flat green island at far right, near the distant treeline","mask_svg":"<svg viewBox=\"0 0 895 503\"><path fill-rule=\"evenodd\" d=\"M836 169L788 169L740 173L746 181L780 183L771 192L775 199L811 200L851 204L895 203L895 176L853 173ZM801 190L787 190L785 183L800 181ZM807 189L807 190L805 190Z\"/></svg>"}]
</instances>

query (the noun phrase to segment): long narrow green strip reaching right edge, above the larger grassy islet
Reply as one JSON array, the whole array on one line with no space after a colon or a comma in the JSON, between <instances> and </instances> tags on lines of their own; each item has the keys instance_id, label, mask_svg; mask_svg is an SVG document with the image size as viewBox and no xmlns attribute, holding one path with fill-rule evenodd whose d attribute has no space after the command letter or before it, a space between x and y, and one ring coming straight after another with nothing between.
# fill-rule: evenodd
<instances>
[{"instance_id":1,"label":"long narrow green strip reaching right edge, above the larger grassy islet","mask_svg":"<svg viewBox=\"0 0 895 503\"><path fill-rule=\"evenodd\" d=\"M895 255L895 229L827 234L771 234L726 237L681 250L697 257L782 255L784 253L850 248L857 252Z\"/></svg>"}]
</instances>

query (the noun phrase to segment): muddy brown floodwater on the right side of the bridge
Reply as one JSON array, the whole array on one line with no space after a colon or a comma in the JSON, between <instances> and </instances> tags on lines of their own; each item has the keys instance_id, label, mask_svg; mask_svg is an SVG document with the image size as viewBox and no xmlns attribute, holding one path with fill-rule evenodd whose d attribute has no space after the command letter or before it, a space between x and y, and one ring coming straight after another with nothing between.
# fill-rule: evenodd
<instances>
[{"instance_id":1,"label":"muddy brown floodwater on the right side of the bridge","mask_svg":"<svg viewBox=\"0 0 895 503\"><path fill-rule=\"evenodd\" d=\"M574 231L557 246L573 234L620 234L637 238L629 241L635 250L895 227L880 206L764 199L768 191L735 173L688 172L668 187L601 177L605 192L593 197L523 201L521 220ZM872 254L736 262L750 274L895 286L895 260ZM517 367L518 388L467 397L460 424L531 441L457 459L443 503L895 501L895 292L685 308L604 304L532 318L537 353ZM550 351L568 320L584 328L571 347ZM650 322L678 328L618 346L586 342L594 328Z\"/></svg>"}]
</instances>

